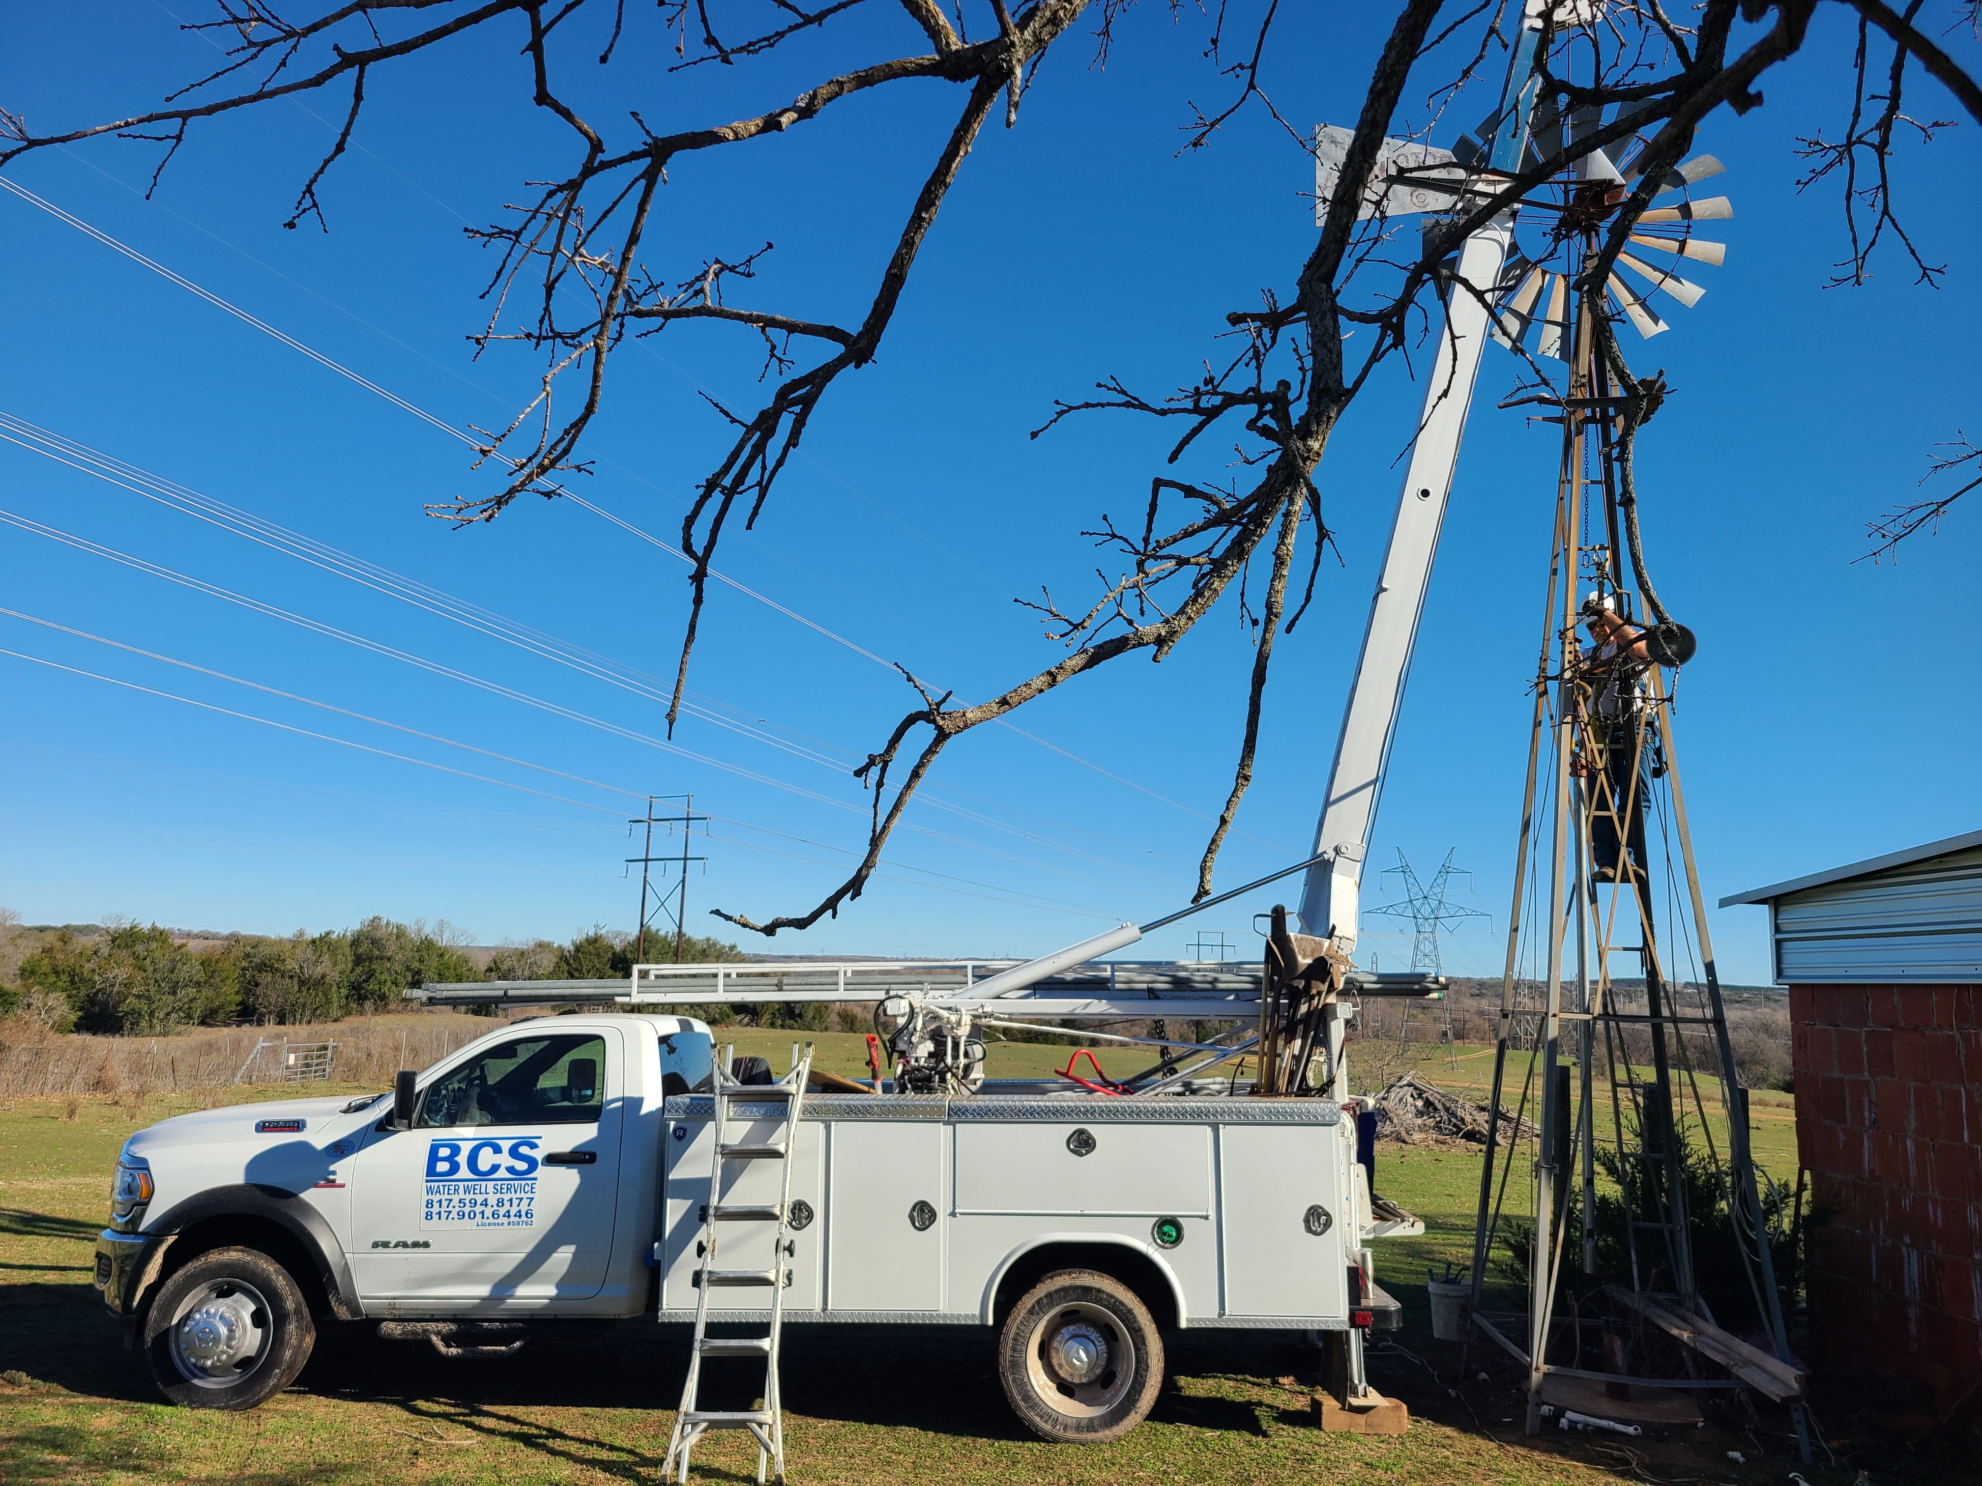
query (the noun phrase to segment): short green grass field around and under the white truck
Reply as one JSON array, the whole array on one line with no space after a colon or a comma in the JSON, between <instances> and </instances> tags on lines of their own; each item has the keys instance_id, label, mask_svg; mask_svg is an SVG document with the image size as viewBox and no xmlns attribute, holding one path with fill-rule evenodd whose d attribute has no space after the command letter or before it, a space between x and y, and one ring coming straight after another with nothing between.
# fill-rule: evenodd
<instances>
[{"instance_id":1,"label":"short green grass field around and under the white truck","mask_svg":"<svg viewBox=\"0 0 1982 1486\"><path fill-rule=\"evenodd\" d=\"M858 1036L813 1040L821 1066L862 1072ZM735 1042L783 1068L791 1034L743 1030ZM1136 1056L1128 1050L1116 1060L1126 1072ZM1062 1058L1064 1048L1001 1044L993 1072L1048 1072ZM1108 1052L1102 1064L1116 1072ZM1459 1080L1479 1066L1477 1054L1465 1056ZM1427 1058L1427 1074L1451 1078L1443 1052ZM89 1286L91 1244L119 1143L196 1104L190 1096L143 1106L0 1104L0 1480L658 1480L686 1363L680 1327L630 1322L583 1343L531 1343L501 1361L444 1361L424 1345L351 1327L325 1333L299 1383L258 1411L159 1403ZM1788 1108L1758 1100L1754 1114L1764 1159L1794 1171ZM1374 1383L1411 1405L1401 1438L1314 1429L1312 1353L1270 1335L1173 1335L1169 1383L1142 1429L1118 1444L1052 1446L1025 1434L1005 1407L989 1331L799 1326L787 1333L785 1359L793 1478L850 1486L912 1478L1544 1486L1784 1482L1800 1468L1770 1433L1782 1429L1780 1419L1756 1433L1693 1431L1679 1440L1530 1440L1520 1433L1516 1379L1498 1359L1475 1353L1473 1371L1485 1367L1488 1381L1469 1377L1449 1389L1457 1347L1429 1337L1423 1274L1469 1252L1477 1183L1471 1149L1385 1145L1379 1155L1381 1189L1427 1221L1423 1238L1385 1244L1377 1256L1381 1280L1407 1308L1407 1329L1372 1357ZM1748 1466L1728 1464L1726 1448L1740 1448ZM704 1480L749 1480L753 1468L737 1436L719 1436L698 1454ZM1800 1470L1812 1486L1855 1474L1827 1464ZM1875 1472L1881 1486L1897 1478Z\"/></svg>"}]
</instances>

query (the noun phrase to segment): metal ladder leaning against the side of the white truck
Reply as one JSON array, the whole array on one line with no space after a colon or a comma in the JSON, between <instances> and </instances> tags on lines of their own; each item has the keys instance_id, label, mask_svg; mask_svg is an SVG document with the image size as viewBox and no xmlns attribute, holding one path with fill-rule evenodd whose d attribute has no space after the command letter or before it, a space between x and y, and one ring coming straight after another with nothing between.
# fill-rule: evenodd
<instances>
[{"instance_id":1,"label":"metal ladder leaning against the side of the white truck","mask_svg":"<svg viewBox=\"0 0 1982 1486\"><path fill-rule=\"evenodd\" d=\"M694 1276L696 1284L696 1337L688 1355L688 1381L682 1385L682 1407L674 1417L674 1433L668 1438L668 1458L660 1478L686 1482L688 1456L712 1429L747 1429L757 1438L757 1480L769 1478L783 1486L785 1480L785 1419L779 1401L777 1355L785 1320L785 1286L791 1272L785 1258L791 1254L791 1240L785 1236L791 1221L791 1167L799 1147L799 1114L805 1106L805 1082L813 1070L813 1048L791 1044L791 1072L775 1084L739 1084L733 1074L735 1048L725 1048L716 1068L716 1110L714 1110L714 1155L710 1157L710 1201L702 1207L702 1238L696 1254L702 1266ZM731 1104L777 1104L779 1129L771 1139L729 1139ZM759 1121L751 1121L759 1123ZM743 1161L779 1161L777 1203L725 1203L723 1175ZM733 1185L733 1183L731 1183ZM716 1268L717 1224L721 1222L775 1222L771 1234L771 1266L763 1270L721 1270ZM710 1335L710 1292L717 1288L761 1286L771 1292L769 1324L763 1335L753 1337L712 1337ZM725 1320L721 1312L716 1320ZM698 1391L702 1385L704 1357L763 1357L763 1407L759 1409L702 1409Z\"/></svg>"}]
</instances>

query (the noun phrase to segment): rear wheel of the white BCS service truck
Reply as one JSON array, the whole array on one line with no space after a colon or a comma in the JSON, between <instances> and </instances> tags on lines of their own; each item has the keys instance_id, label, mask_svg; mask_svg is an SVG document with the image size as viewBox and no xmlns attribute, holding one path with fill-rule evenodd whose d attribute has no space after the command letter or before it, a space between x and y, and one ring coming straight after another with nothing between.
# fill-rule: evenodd
<instances>
[{"instance_id":1,"label":"rear wheel of the white BCS service truck","mask_svg":"<svg viewBox=\"0 0 1982 1486\"><path fill-rule=\"evenodd\" d=\"M1094 1270L1056 1270L1005 1318L999 1381L1035 1434L1064 1444L1118 1440L1163 1387L1163 1339L1136 1292Z\"/></svg>"}]
</instances>

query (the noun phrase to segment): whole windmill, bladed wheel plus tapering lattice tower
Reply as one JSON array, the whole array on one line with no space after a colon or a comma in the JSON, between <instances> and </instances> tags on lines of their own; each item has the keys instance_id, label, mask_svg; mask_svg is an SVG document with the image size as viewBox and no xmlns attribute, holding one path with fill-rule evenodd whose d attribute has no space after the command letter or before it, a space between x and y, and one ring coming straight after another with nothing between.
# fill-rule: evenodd
<instances>
[{"instance_id":1,"label":"whole windmill, bladed wheel plus tapering lattice tower","mask_svg":"<svg viewBox=\"0 0 1982 1486\"><path fill-rule=\"evenodd\" d=\"M1560 125L1544 125L1536 131L1540 149L1574 141L1597 121L1596 111L1576 111ZM1455 155L1465 153L1461 147ZM1540 806L1552 842L1548 898L1536 905L1546 929L1524 921L1526 880L1516 872L1488 1108L1500 1110L1510 1064L1526 1040L1516 1030L1514 999L1526 939L1530 969L1542 971L1542 1005L1524 1050L1528 1068L1516 1119L1528 1100L1540 1106L1540 1119L1536 1151L1502 1151L1488 1135L1473 1308L1477 1329L1526 1363L1530 1433L1544 1407L1586 1405L1594 1387L1679 1383L1645 1377L1647 1351L1639 1345L1631 1361L1621 1339L1629 1331L1641 1337L1663 1331L1695 1351L1687 1381L1705 1353L1722 1365L1732 1359L1730 1383L1790 1403L1808 1458L1802 1373L1784 1335L1768 1221L1748 1149L1746 1094L1734 1072L1679 781L1671 686L1693 656L1693 634L1671 618L1645 571L1631 470L1631 442L1647 416L1645 386L1633 380L1615 343L1621 321L1643 339L1669 329L1653 295L1683 307L1701 301L1705 289L1681 277L1677 264L1724 262L1724 246L1695 236L1695 224L1728 220L1732 206L1724 196L1695 198L1695 186L1722 172L1716 159L1703 155L1671 168L1651 204L1619 222L1641 184L1643 143L1637 159L1629 153L1621 159L1619 168L1603 151L1592 151L1522 204L1538 230L1530 234L1532 246L1510 248L1494 295L1494 339L1524 347L1534 335L1536 355L1568 365L1568 388L1558 396L1514 398L1554 404L1562 426L1556 553L1528 755L1528 798L1552 785ZM1603 246L1619 230L1627 250L1597 281ZM1673 267L1641 254L1659 254ZM1633 622L1637 612L1645 614L1643 626ZM1588 644L1578 626L1588 626ZM1524 866L1542 844L1534 812L1528 820L1520 844ZM1689 900L1691 913L1673 915L1681 919L1677 925L1661 923L1655 911L1667 892L1675 902L1681 892ZM1675 927L1677 947L1667 943ZM1691 977L1675 973L1695 945ZM1568 959L1576 969L1564 1005ZM1562 1052L1574 1054L1580 1084L1574 1094ZM1718 1082L1714 1112L1703 1082ZM1716 1135L1722 1121L1724 1149ZM1601 1163L1599 1147L1609 1147ZM1697 1151L1708 1155L1714 1173L1716 1191L1707 1193L1710 1211L1689 1211L1699 1197L1689 1175L1689 1153ZM1520 1163L1532 1163L1522 1167L1532 1169L1528 1304L1524 1314L1496 1316L1486 1308L1486 1266L1504 1234L1506 1179ZM1615 1173L1619 1189L1621 1226L1611 1236L1621 1240L1627 1278L1605 1276L1597 1262L1599 1165ZM1580 1236L1572 1230L1576 1222ZM1720 1222L1768 1351L1726 1347L1730 1337L1714 1324L1707 1292L1720 1276L1703 1274L1705 1260L1695 1250ZM1580 1333L1570 1335L1558 1320L1578 1270L1584 1304L1594 1300L1615 1324L1615 1345L1605 1345L1599 1357L1586 1357ZM1724 1306L1726 1286L1720 1290ZM1613 1401L1607 1409L1619 1413Z\"/></svg>"}]
</instances>

